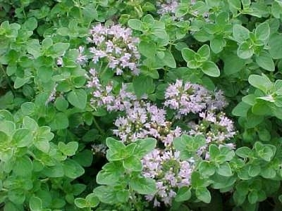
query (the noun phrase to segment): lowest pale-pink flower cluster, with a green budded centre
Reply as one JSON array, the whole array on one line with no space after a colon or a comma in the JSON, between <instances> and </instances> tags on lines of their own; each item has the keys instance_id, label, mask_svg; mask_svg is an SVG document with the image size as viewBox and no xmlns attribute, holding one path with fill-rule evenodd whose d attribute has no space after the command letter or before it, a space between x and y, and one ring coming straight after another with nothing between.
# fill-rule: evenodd
<instances>
[{"instance_id":1,"label":"lowest pale-pink flower cluster, with a green budded centre","mask_svg":"<svg viewBox=\"0 0 282 211\"><path fill-rule=\"evenodd\" d=\"M154 200L154 206L160 206L160 202L171 205L176 196L176 188L190 185L190 176L194 170L194 163L180 161L179 152L162 151L154 149L142 159L143 172L147 178L156 180L157 193L146 196L149 201Z\"/></svg>"}]
</instances>

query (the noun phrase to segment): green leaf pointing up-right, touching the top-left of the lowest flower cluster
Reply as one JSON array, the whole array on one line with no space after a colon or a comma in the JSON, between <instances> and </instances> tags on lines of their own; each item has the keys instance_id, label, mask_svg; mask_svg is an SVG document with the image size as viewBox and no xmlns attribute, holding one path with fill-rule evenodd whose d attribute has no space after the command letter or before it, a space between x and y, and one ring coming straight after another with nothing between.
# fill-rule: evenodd
<instances>
[{"instance_id":1,"label":"green leaf pointing up-right, touching the top-left of the lowest flower cluster","mask_svg":"<svg viewBox=\"0 0 282 211\"><path fill-rule=\"evenodd\" d=\"M137 144L134 149L134 155L138 158L143 158L153 151L157 145L157 140L153 138L137 139L134 143Z\"/></svg>"}]
</instances>

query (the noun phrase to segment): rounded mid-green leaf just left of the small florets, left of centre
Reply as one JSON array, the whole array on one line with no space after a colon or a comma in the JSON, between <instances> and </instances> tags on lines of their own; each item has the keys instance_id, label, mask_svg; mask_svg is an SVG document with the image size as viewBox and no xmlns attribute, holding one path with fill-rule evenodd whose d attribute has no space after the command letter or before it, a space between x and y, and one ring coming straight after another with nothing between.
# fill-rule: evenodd
<instances>
[{"instance_id":1,"label":"rounded mid-green leaf just left of the small florets, left of centre","mask_svg":"<svg viewBox=\"0 0 282 211\"><path fill-rule=\"evenodd\" d=\"M84 109L87 103L87 94L84 89L75 89L68 93L68 102L76 108Z\"/></svg>"}]
</instances>

